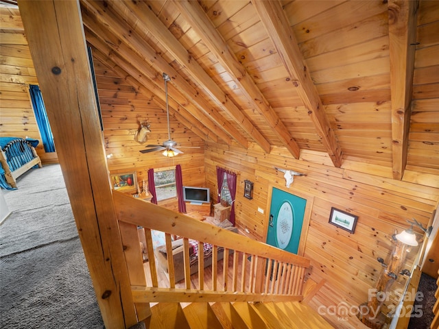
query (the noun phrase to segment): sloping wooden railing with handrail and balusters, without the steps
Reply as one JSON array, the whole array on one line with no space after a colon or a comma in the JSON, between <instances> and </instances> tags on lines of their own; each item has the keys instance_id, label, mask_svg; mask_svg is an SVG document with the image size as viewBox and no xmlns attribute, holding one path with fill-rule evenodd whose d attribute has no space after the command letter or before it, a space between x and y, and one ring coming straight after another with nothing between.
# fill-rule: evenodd
<instances>
[{"instance_id":1,"label":"sloping wooden railing with handrail and balusters, without the steps","mask_svg":"<svg viewBox=\"0 0 439 329\"><path fill-rule=\"evenodd\" d=\"M136 303L148 302L269 302L302 300L309 259L285 252L198 221L186 215L113 193ZM143 264L138 227L145 232L149 261ZM166 252L172 254L171 236L182 239L185 278L174 282L174 257L167 257L169 280L162 282L154 259L151 230L165 232ZM189 245L198 245L198 282L191 282ZM211 279L205 280L203 243L211 245ZM223 259L218 260L222 253Z\"/></svg>"}]
</instances>

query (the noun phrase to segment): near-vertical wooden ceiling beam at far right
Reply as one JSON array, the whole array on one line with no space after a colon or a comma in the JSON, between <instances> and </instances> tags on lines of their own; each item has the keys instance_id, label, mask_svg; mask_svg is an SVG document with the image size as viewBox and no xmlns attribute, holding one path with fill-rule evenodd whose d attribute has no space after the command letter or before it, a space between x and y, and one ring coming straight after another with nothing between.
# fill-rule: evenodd
<instances>
[{"instance_id":1,"label":"near-vertical wooden ceiling beam at far right","mask_svg":"<svg viewBox=\"0 0 439 329\"><path fill-rule=\"evenodd\" d=\"M402 180L407 164L418 5L418 1L411 0L388 1L392 169L395 180Z\"/></svg>"}]
</instances>

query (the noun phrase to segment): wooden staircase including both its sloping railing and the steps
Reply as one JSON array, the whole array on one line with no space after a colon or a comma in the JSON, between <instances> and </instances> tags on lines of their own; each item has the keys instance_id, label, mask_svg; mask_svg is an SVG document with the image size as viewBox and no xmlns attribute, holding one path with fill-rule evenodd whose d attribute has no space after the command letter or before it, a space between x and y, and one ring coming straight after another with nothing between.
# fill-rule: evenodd
<instances>
[{"instance_id":1,"label":"wooden staircase including both its sloping railing and the steps","mask_svg":"<svg viewBox=\"0 0 439 329\"><path fill-rule=\"evenodd\" d=\"M117 191L113 203L137 319L146 328L333 328L307 304L324 284L305 282L309 259ZM165 233L165 278L152 230ZM180 259L172 236L181 239ZM176 262L185 274L178 282Z\"/></svg>"}]
</instances>

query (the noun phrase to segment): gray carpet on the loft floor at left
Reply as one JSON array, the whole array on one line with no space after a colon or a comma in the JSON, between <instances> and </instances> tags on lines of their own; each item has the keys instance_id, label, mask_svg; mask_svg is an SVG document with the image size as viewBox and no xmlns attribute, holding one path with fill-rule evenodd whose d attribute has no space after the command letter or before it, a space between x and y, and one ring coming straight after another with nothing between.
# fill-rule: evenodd
<instances>
[{"instance_id":1,"label":"gray carpet on the loft floor at left","mask_svg":"<svg viewBox=\"0 0 439 329\"><path fill-rule=\"evenodd\" d=\"M4 191L0 226L1 328L104 328L58 164Z\"/></svg>"}]
</instances>

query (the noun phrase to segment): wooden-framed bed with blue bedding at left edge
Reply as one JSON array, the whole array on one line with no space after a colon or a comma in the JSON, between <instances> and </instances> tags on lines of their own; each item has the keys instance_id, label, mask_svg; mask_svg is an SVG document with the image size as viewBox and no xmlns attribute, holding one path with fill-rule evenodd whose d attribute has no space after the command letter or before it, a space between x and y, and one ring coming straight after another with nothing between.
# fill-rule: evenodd
<instances>
[{"instance_id":1,"label":"wooden-framed bed with blue bedding at left edge","mask_svg":"<svg viewBox=\"0 0 439 329\"><path fill-rule=\"evenodd\" d=\"M42 167L35 147L38 139L0 137L0 186L16 189L16 179L31 168Z\"/></svg>"}]
</instances>

